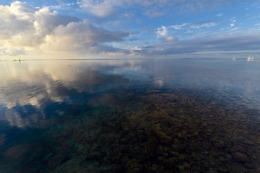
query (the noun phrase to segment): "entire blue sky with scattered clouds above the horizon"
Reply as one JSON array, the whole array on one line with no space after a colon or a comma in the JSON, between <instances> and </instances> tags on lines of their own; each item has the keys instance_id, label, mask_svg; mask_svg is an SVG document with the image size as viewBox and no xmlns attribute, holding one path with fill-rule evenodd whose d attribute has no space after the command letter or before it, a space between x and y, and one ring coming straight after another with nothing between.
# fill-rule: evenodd
<instances>
[{"instance_id":1,"label":"entire blue sky with scattered clouds above the horizon","mask_svg":"<svg viewBox=\"0 0 260 173\"><path fill-rule=\"evenodd\" d=\"M260 0L2 0L0 14L0 60L260 58Z\"/></svg>"}]
</instances>

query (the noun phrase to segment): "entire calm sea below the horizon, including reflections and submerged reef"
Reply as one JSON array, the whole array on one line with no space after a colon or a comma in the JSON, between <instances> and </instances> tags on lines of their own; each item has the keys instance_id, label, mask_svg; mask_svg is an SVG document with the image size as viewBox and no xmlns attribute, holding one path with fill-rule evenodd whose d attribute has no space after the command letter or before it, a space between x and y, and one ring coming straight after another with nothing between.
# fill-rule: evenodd
<instances>
[{"instance_id":1,"label":"entire calm sea below the horizon, including reflections and submerged reef","mask_svg":"<svg viewBox=\"0 0 260 173\"><path fill-rule=\"evenodd\" d=\"M260 172L260 62L0 61L0 172Z\"/></svg>"}]
</instances>

